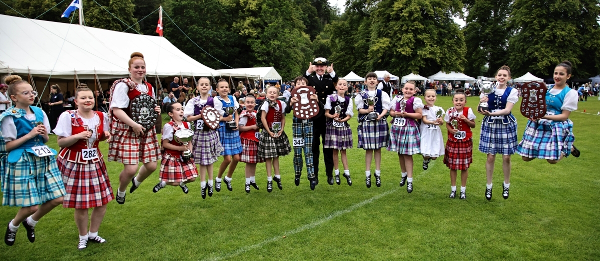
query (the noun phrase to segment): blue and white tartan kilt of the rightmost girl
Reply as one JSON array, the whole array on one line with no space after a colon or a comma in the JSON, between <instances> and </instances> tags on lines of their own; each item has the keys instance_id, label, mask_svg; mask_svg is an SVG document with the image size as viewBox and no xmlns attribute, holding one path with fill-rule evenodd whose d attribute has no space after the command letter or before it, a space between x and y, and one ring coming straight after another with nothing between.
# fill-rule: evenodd
<instances>
[{"instance_id":1,"label":"blue and white tartan kilt of the rightmost girl","mask_svg":"<svg viewBox=\"0 0 600 261\"><path fill-rule=\"evenodd\" d=\"M560 154L568 157L575 141L573 122L535 123L527 121L523 139L517 147L517 153L524 157L539 159L560 159Z\"/></svg>"}]
</instances>

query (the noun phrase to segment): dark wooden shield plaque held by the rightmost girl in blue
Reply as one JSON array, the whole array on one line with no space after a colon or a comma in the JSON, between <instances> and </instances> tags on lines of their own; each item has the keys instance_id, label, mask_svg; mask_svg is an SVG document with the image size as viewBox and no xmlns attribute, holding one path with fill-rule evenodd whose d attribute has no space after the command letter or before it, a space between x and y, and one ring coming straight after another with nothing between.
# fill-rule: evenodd
<instances>
[{"instance_id":1,"label":"dark wooden shield plaque held by the rightmost girl in blue","mask_svg":"<svg viewBox=\"0 0 600 261\"><path fill-rule=\"evenodd\" d=\"M530 81L521 85L521 114L527 119L537 120L546 115L546 84Z\"/></svg>"}]
</instances>

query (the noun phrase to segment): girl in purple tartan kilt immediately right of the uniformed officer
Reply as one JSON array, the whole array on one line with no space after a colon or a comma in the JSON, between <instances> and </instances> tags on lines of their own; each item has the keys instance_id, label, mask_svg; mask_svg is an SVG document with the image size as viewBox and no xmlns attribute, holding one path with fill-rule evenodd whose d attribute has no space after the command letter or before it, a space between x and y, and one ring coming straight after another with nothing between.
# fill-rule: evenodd
<instances>
[{"instance_id":1,"label":"girl in purple tartan kilt immediately right of the uniformed officer","mask_svg":"<svg viewBox=\"0 0 600 261\"><path fill-rule=\"evenodd\" d=\"M348 185L352 186L348 158L346 157L346 150L352 148L352 129L348 124L348 120L354 116L352 99L346 95L348 89L346 80L338 80L335 89L337 93L327 96L325 101L325 117L329 119L325 129L325 144L323 144L323 147L333 149L335 183L338 185L341 183L340 168L338 168L340 165L338 151L340 151L341 163L344 166L344 178L346 178ZM337 112L336 107L340 109L339 112Z\"/></svg>"}]
</instances>

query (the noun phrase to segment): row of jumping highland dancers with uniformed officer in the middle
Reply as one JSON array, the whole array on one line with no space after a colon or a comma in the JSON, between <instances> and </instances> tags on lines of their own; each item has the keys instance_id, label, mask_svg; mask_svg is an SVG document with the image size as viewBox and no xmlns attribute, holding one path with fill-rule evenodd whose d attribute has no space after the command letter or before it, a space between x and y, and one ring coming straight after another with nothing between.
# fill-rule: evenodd
<instances>
[{"instance_id":1,"label":"row of jumping highland dancers with uniformed officer in the middle","mask_svg":"<svg viewBox=\"0 0 600 261\"><path fill-rule=\"evenodd\" d=\"M372 184L373 159L375 185L380 187L382 184L382 148L386 148L398 155L400 186L406 185L408 193L414 189L413 155L422 155L423 169L428 169L431 160L443 156L443 163L450 173L449 198L457 196L460 171L458 197L466 199L468 169L473 163L471 130L476 128L475 111L484 116L478 148L487 154L487 200L492 198L494 162L498 154L502 155L504 199L509 198L511 154L520 154L524 161L545 159L553 164L571 154L580 155L573 145L573 123L568 119L571 111L577 110L578 101L577 90L566 85L571 77L568 61L559 63L554 69L555 84L548 86L546 96L547 115L539 120L529 119L519 142L517 121L511 113L518 102L518 91L508 85L511 78L508 66L497 70L496 90L490 95L479 96L479 101L488 103L488 110L467 107L466 90L454 87L448 93L452 96L453 107L444 110L436 105L435 89L424 90L421 99L415 96L419 84L407 81L401 87L401 95L392 95L394 87L385 80L381 84L374 72L365 76L365 89L352 98L348 92L352 84L335 74L333 63L319 57L310 63L303 75L295 78L293 86L312 86L316 93L306 99L318 104L320 113L310 119L296 117L296 114L286 119L286 113L299 109L295 106L310 101L292 97L288 93L289 87L284 89L282 101L281 86L277 85L256 90L256 93L254 89L248 92L251 87L240 83L241 90L232 91L229 83L221 79L211 92L210 80L202 77L197 81L196 89L190 92L185 79L179 84L176 78L169 93L154 93L152 85L144 81L146 63L143 55L133 53L130 58L130 78L117 80L110 87L109 99L104 103L109 108L107 113L95 109L98 108L95 102L98 93L79 86L74 91L76 110L58 113L51 109L48 116L33 106L37 92L27 81L18 75L4 79L7 90L2 94L10 98L14 106L0 114L2 205L20 207L7 224L5 244L14 244L20 225L25 227L29 241L34 242L35 226L40 218L61 204L64 208L74 208L79 250L85 249L89 242L106 242L98 235L106 205L113 199L118 204L125 204L126 190L129 188L131 194L139 189L157 169L159 160L158 183L152 188L154 193L167 186L179 187L183 193L188 193L188 184L198 178L203 199L207 195L211 197L215 191L220 192L223 183L232 191L232 175L239 162L245 163L245 192L250 193L251 188L259 190L256 168L263 162L266 190L272 192L274 183L282 190L279 157L292 151L296 186L301 183L304 167L310 189L314 190L319 184L321 152L327 183L339 185L344 177L352 186L346 151L353 148L349 120L355 113L358 114L355 127L358 148L365 151L364 174L368 188ZM49 105L52 108L61 105L63 100L58 86L51 89ZM140 95L163 102L154 111L158 115L164 111L170 117L169 122L161 126L160 140L155 128L146 129L132 119L130 101ZM186 95L188 97L182 100ZM218 128L209 127L210 119L204 119L208 115L206 111L215 111L220 116ZM292 120L291 144L284 131L286 120ZM442 128L448 130L446 143ZM193 132L190 144L177 138L181 130ZM44 145L50 131L57 136L61 147L58 152ZM104 155L98 149L98 142L104 140L109 142L107 159L122 164L116 193L113 193ZM187 156L188 151L191 157ZM223 161L215 177L214 163L220 156ZM93 208L91 219L88 218L90 208Z\"/></svg>"}]
</instances>

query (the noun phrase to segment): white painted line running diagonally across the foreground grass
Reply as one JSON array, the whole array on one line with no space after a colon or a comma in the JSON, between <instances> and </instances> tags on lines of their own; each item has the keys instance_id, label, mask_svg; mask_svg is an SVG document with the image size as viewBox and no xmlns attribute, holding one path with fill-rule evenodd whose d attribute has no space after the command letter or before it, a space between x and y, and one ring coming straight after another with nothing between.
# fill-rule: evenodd
<instances>
[{"instance_id":1,"label":"white painted line running diagonally across the foreground grass","mask_svg":"<svg viewBox=\"0 0 600 261\"><path fill-rule=\"evenodd\" d=\"M427 174L429 172L429 170L431 168L433 168L434 165L436 165L435 163L436 163L436 160L432 160L431 163L430 163L430 165L429 165L429 168L427 168L426 171L421 172L421 174L419 174L418 177L421 177L422 175ZM421 164L422 164L422 162L421 162ZM339 217L339 216L341 216L343 214L346 214L346 213L350 213L350 212L356 210L357 208L361 208L364 205L367 205L367 204L370 204L373 201L376 201L377 199L380 199L380 198L382 198L384 196L390 195L391 193L396 192L398 189L399 189L399 187L396 187L395 189L391 189L391 190L388 190L386 192L383 192L383 193L381 193L381 194L379 194L377 196L374 196L373 198L370 198L370 199L367 199L365 201L362 201L362 202L359 202L357 204L354 204L354 205L350 206L349 208L346 208L345 210L335 211L334 213L329 214L329 216L327 216L327 217L323 217L323 218L321 218L319 220L313 221L312 223L308 223L308 224L305 224L304 226L301 226L301 227L298 227L296 229L293 229L293 230L290 230L288 232L285 232L285 233L283 233L283 235L278 235L278 236L274 236L272 238L265 239L264 241L262 241L262 242L260 242L258 244L247 245L245 247L238 248L238 250L233 251L232 253L229 253L229 254L224 254L223 256L211 257L211 258L204 259L204 260L223 260L223 259L228 259L230 257L235 257L235 256L238 256L239 254L242 254L242 253L245 253L247 251L253 250L255 248L263 247L263 245L270 244L270 243L275 242L275 241L280 241L281 239L283 239L283 236L294 235L294 234L300 233L300 232L302 232L304 230L308 230L308 229L312 229L314 227L320 226L321 224L323 224L323 223L331 220L332 218Z\"/></svg>"}]
</instances>

